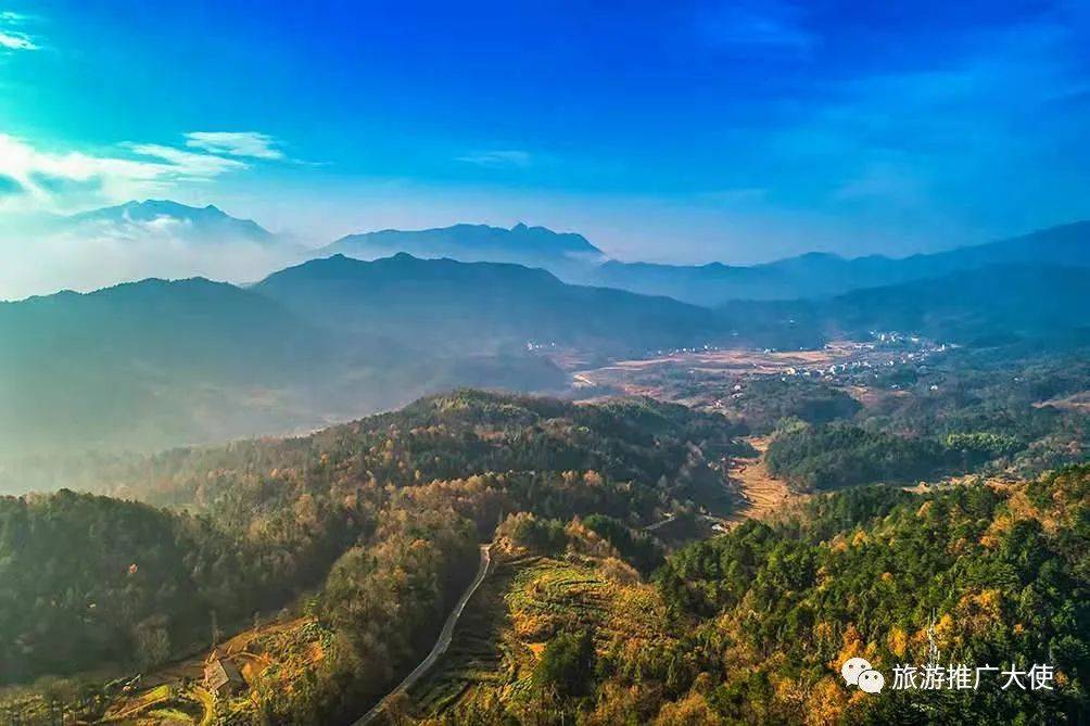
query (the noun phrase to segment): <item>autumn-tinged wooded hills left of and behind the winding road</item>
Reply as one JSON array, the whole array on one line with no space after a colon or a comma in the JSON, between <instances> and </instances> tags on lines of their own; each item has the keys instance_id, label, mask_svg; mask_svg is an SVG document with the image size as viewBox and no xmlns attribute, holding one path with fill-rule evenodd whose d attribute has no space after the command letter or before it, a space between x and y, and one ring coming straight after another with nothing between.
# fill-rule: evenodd
<instances>
[{"instance_id":1,"label":"autumn-tinged wooded hills left of and behind the winding road","mask_svg":"<svg viewBox=\"0 0 1090 726\"><path fill-rule=\"evenodd\" d=\"M263 690L253 717L343 718L426 650L477 543L508 515L598 515L616 531L659 521L699 506L732 433L650 400L458 391L307 437L111 465L101 491L144 504L7 497L0 676L146 669L308 593L335 641L305 688Z\"/></svg>"}]
</instances>

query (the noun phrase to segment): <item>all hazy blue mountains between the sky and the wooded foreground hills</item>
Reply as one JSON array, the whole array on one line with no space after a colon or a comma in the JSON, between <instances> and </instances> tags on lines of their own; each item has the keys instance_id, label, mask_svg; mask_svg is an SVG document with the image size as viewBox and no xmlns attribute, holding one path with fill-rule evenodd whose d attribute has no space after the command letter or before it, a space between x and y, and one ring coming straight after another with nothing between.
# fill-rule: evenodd
<instances>
[{"instance_id":1,"label":"all hazy blue mountains between the sky and the wooded foreground hills","mask_svg":"<svg viewBox=\"0 0 1090 726\"><path fill-rule=\"evenodd\" d=\"M211 235L279 244L252 221L171 202L65 223L179 227L193 247ZM146 279L0 303L0 455L304 431L463 385L559 389L567 376L542 352L557 349L601 363L705 344L798 349L872 330L1083 343L1088 238L1079 223L904 259L671 267L607 261L578 234L463 225L344 238L334 246L379 258L281 264L249 287ZM522 264L383 256L399 246ZM209 247L210 257L233 249Z\"/></svg>"}]
</instances>

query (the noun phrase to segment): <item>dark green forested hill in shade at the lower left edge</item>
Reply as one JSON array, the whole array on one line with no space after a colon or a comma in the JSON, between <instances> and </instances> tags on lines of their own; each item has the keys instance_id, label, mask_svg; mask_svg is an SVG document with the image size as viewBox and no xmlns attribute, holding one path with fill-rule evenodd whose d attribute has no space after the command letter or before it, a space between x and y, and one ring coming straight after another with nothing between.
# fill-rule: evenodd
<instances>
[{"instance_id":1,"label":"dark green forested hill in shade at the lower left edge","mask_svg":"<svg viewBox=\"0 0 1090 726\"><path fill-rule=\"evenodd\" d=\"M313 582L358 530L325 524L280 549L132 501L0 498L0 680L145 668L206 644L217 622L239 624Z\"/></svg>"}]
</instances>

